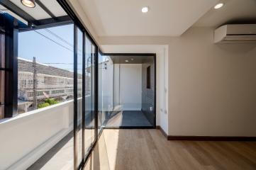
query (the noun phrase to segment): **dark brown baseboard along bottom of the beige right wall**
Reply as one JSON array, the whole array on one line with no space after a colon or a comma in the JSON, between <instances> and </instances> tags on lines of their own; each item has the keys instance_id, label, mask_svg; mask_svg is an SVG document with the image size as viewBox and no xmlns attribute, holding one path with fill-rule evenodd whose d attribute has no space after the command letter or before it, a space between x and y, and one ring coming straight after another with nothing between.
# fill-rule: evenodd
<instances>
[{"instance_id":1,"label":"dark brown baseboard along bottom of the beige right wall","mask_svg":"<svg viewBox=\"0 0 256 170\"><path fill-rule=\"evenodd\" d=\"M235 137L235 136L178 136L167 135L160 126L156 126L167 140L197 140L197 141L256 141L256 137Z\"/></svg>"}]
</instances>

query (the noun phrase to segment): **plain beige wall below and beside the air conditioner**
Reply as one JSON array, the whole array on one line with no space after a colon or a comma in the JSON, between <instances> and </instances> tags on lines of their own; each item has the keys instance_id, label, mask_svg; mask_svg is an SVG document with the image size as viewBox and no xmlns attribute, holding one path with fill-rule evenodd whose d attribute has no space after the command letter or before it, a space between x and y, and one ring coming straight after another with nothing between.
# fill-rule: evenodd
<instances>
[{"instance_id":1,"label":"plain beige wall below and beside the air conditioner","mask_svg":"<svg viewBox=\"0 0 256 170\"><path fill-rule=\"evenodd\" d=\"M169 135L256 136L256 45L191 28L169 45Z\"/></svg>"}]
</instances>

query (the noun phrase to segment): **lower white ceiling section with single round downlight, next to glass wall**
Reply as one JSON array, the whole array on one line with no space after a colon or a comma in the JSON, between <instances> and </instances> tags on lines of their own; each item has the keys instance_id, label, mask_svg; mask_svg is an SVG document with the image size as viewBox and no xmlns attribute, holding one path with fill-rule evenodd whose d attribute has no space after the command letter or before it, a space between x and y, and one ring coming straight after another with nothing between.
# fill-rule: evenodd
<instances>
[{"instance_id":1,"label":"lower white ceiling section with single round downlight, next to glass wall","mask_svg":"<svg viewBox=\"0 0 256 170\"><path fill-rule=\"evenodd\" d=\"M99 36L179 36L218 1L79 0L79 3ZM150 6L150 11L142 13L143 6Z\"/></svg>"}]
</instances>

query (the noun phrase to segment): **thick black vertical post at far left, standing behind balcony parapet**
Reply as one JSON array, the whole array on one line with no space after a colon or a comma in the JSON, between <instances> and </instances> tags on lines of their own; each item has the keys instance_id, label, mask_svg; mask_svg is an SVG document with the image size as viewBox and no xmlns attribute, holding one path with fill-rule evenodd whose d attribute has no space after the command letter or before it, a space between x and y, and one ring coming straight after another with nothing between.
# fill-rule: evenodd
<instances>
[{"instance_id":1,"label":"thick black vertical post at far left, standing behind balcony parapet","mask_svg":"<svg viewBox=\"0 0 256 170\"><path fill-rule=\"evenodd\" d=\"M4 82L4 117L11 118L18 111L18 22L0 14L1 28L5 35L5 82Z\"/></svg>"}]
</instances>

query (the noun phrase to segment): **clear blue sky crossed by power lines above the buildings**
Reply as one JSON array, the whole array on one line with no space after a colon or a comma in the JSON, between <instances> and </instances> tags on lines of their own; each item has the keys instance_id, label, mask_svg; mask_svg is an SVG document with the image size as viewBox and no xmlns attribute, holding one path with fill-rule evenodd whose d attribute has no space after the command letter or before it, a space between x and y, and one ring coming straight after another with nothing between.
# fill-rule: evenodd
<instances>
[{"instance_id":1,"label":"clear blue sky crossed by power lines above the buildings","mask_svg":"<svg viewBox=\"0 0 256 170\"><path fill-rule=\"evenodd\" d=\"M62 38L57 38L48 30L41 29L35 31L27 31L18 34L18 57L26 60L33 60L36 58L40 63L58 63L49 64L54 67L67 69L73 71L73 44L74 44L74 26L73 24L67 26L57 26L55 28L48 28L50 32ZM42 34L42 35L40 35ZM45 35L48 38L45 38ZM49 40L49 38L51 40ZM54 40L55 42L52 42ZM57 43L58 44L57 44ZM64 47L63 47L64 46ZM67 50L68 48L69 50ZM82 32L78 32L78 69L82 68ZM81 65L81 67L80 67Z\"/></svg>"}]
</instances>

